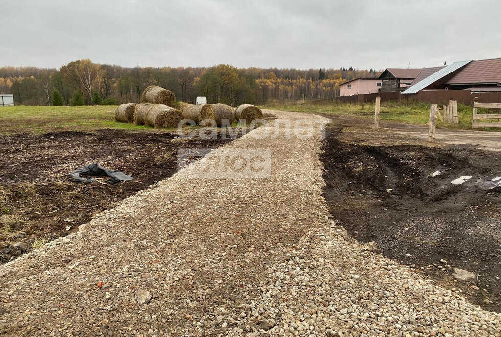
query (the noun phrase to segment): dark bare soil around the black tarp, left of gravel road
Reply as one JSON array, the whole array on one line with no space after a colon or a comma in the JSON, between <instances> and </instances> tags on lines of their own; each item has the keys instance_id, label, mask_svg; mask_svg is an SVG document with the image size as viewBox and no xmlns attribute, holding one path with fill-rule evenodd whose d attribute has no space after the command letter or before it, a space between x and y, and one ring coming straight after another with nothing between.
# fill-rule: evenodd
<instances>
[{"instance_id":1,"label":"dark bare soil around the black tarp, left of gravel road","mask_svg":"<svg viewBox=\"0 0 501 337\"><path fill-rule=\"evenodd\" d=\"M216 148L232 139L180 139L170 132L103 129L0 135L0 263L65 236L95 214L172 176L179 148ZM76 168L98 162L134 180L73 183Z\"/></svg>"}]
</instances>

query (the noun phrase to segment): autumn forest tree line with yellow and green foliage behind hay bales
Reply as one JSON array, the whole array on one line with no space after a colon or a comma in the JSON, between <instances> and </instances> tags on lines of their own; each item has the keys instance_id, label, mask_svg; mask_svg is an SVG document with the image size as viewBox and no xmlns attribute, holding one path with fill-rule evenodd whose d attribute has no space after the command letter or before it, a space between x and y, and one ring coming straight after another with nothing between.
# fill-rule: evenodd
<instances>
[{"instance_id":1,"label":"autumn forest tree line with yellow and green foliage behind hay bales","mask_svg":"<svg viewBox=\"0 0 501 337\"><path fill-rule=\"evenodd\" d=\"M0 68L0 93L14 95L16 105L94 105L139 102L149 85L174 92L176 99L236 106L270 101L334 99L339 85L358 77L377 77L373 69L278 69L213 67L134 67L78 60L60 69Z\"/></svg>"}]
</instances>

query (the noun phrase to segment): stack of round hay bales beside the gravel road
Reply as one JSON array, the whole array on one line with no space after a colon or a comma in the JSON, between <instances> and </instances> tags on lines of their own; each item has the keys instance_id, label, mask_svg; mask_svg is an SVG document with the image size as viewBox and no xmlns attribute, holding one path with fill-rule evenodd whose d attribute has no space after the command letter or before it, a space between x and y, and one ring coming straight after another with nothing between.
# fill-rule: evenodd
<instances>
[{"instance_id":1,"label":"stack of round hay bales beside the gravel road","mask_svg":"<svg viewBox=\"0 0 501 337\"><path fill-rule=\"evenodd\" d=\"M141 103L127 103L115 110L117 122L155 128L177 127L183 119L193 120L200 126L231 126L233 120L252 123L262 119L263 112L251 104L242 104L236 109L225 104L194 105L176 102L174 93L156 85L144 89ZM214 125L215 124L215 125Z\"/></svg>"}]
</instances>

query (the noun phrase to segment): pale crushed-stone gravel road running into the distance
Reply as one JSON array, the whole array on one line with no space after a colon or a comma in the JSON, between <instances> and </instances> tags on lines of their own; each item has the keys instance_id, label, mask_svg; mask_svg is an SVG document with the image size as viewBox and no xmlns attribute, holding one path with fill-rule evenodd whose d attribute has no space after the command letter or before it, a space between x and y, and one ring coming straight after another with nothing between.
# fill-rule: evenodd
<instances>
[{"instance_id":1,"label":"pale crushed-stone gravel road running into the distance","mask_svg":"<svg viewBox=\"0 0 501 337\"><path fill-rule=\"evenodd\" d=\"M320 128L289 139L283 123L321 117L273 113L278 137L261 127L212 152L269 149L270 178L184 170L0 267L0 333L501 336L501 315L332 222Z\"/></svg>"}]
</instances>

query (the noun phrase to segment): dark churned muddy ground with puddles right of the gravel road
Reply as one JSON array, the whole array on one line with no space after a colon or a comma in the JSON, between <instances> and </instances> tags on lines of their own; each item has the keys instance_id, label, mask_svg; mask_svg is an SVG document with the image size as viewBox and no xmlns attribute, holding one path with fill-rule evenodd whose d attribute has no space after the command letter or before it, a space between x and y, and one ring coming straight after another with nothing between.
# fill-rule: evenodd
<instances>
[{"instance_id":1,"label":"dark churned muddy ground with puddles right of the gravel road","mask_svg":"<svg viewBox=\"0 0 501 337\"><path fill-rule=\"evenodd\" d=\"M501 177L501 153L386 127L333 117L323 153L331 214L383 255L501 311L501 184L491 181ZM461 176L472 178L451 184ZM471 274L461 280L454 268Z\"/></svg>"}]
</instances>

